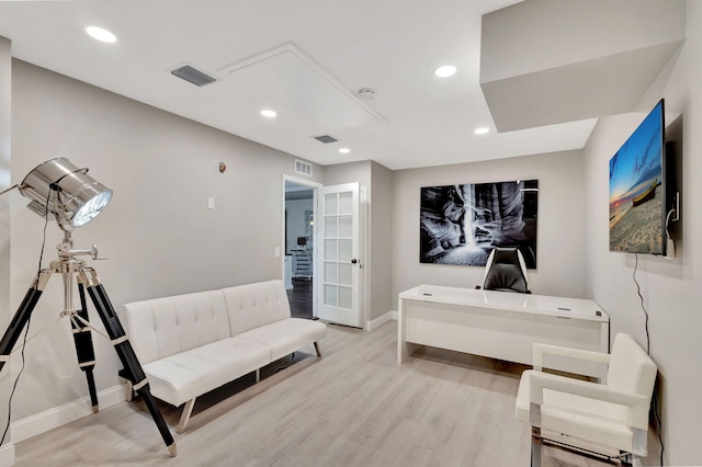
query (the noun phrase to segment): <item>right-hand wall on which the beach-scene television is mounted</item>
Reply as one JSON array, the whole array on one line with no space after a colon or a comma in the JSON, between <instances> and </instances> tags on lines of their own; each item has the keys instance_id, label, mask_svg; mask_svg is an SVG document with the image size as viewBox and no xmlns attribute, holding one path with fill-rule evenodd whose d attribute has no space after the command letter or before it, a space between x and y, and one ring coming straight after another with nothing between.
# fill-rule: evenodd
<instances>
[{"instance_id":1,"label":"right-hand wall on which the beach-scene television is mounted","mask_svg":"<svg viewBox=\"0 0 702 467\"><path fill-rule=\"evenodd\" d=\"M649 92L641 113L601 118L585 149L587 291L610 315L612 335L627 332L646 345L645 315L632 278L633 254L610 253L608 241L609 159L655 102L666 99L668 123L682 115L682 220L677 258L638 255L636 277L649 315L650 354L659 368L665 465L702 465L702 3L687 2L687 34L663 91ZM660 84L660 83L659 83ZM646 465L658 465L659 446L649 436Z\"/></svg>"}]
</instances>

